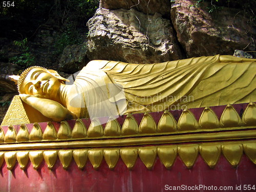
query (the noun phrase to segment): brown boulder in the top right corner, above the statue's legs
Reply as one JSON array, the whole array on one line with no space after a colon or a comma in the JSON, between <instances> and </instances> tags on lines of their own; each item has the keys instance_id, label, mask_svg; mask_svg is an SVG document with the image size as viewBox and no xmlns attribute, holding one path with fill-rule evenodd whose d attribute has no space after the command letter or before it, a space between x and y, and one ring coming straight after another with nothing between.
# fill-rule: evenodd
<instances>
[{"instance_id":1,"label":"brown boulder in the top right corner, above the statue's legs","mask_svg":"<svg viewBox=\"0 0 256 192\"><path fill-rule=\"evenodd\" d=\"M232 55L235 49L254 51L256 32L248 18L235 9L218 9L209 13L208 5L197 8L191 0L176 0L172 5L172 22L188 57Z\"/></svg>"}]
</instances>

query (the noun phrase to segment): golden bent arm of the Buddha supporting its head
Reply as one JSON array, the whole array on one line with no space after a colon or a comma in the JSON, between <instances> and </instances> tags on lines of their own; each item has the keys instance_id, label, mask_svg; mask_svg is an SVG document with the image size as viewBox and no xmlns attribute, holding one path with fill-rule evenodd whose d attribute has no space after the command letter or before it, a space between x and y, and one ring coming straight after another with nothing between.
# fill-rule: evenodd
<instances>
[{"instance_id":1,"label":"golden bent arm of the Buddha supporting its head","mask_svg":"<svg viewBox=\"0 0 256 192\"><path fill-rule=\"evenodd\" d=\"M60 103L39 98L34 95L19 94L20 98L44 116L51 118L53 121L62 121L65 119L74 119L75 115Z\"/></svg>"}]
</instances>

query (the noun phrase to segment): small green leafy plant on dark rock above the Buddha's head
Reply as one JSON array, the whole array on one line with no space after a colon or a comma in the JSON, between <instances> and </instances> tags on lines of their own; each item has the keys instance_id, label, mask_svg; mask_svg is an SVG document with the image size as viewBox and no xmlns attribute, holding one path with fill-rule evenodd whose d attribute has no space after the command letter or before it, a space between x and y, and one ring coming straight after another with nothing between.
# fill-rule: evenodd
<instances>
[{"instance_id":1,"label":"small green leafy plant on dark rock above the Buddha's head","mask_svg":"<svg viewBox=\"0 0 256 192\"><path fill-rule=\"evenodd\" d=\"M22 49L23 54L19 56L14 56L9 59L10 62L16 63L17 65L27 68L34 65L35 57L31 54L28 47L28 39L25 38L23 40L17 41L15 40L14 45L20 47Z\"/></svg>"}]
</instances>

